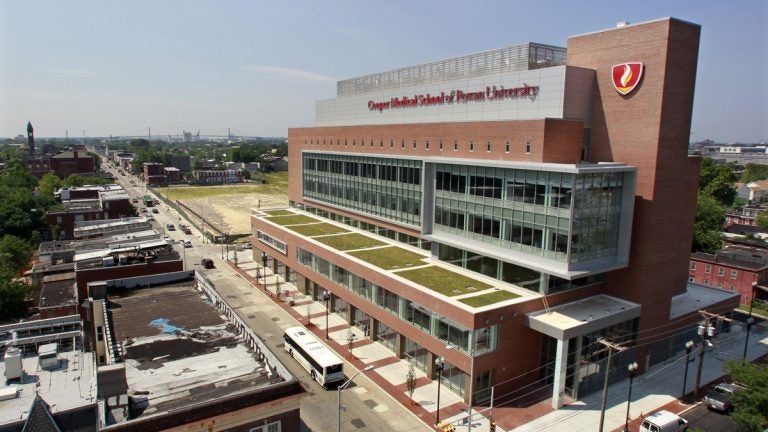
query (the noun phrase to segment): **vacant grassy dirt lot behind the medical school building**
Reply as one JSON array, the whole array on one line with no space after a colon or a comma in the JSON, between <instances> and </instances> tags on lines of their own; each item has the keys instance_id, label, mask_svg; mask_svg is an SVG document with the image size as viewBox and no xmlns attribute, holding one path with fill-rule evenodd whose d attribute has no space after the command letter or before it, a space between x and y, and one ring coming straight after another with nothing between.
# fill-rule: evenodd
<instances>
[{"instance_id":1,"label":"vacant grassy dirt lot behind the medical school building","mask_svg":"<svg viewBox=\"0 0 768 432\"><path fill-rule=\"evenodd\" d=\"M155 191L200 215L216 230L251 233L251 210L288 206L288 173L267 174L266 184L174 186Z\"/></svg>"}]
</instances>

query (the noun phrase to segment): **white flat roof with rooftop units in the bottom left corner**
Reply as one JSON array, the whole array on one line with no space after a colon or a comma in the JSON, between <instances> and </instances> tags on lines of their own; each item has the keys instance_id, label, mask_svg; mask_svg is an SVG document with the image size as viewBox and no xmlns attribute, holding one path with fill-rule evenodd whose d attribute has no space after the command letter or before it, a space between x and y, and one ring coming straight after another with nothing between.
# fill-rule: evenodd
<instances>
[{"instance_id":1,"label":"white flat roof with rooftop units in the bottom left corner","mask_svg":"<svg viewBox=\"0 0 768 432\"><path fill-rule=\"evenodd\" d=\"M96 370L92 352L59 351L57 367L40 367L39 357L22 358L25 377L5 381L5 361L0 362L0 391L17 390L14 399L0 401L0 425L23 421L36 394L50 406L52 414L96 403ZM12 391L12 390L11 390Z\"/></svg>"}]
</instances>

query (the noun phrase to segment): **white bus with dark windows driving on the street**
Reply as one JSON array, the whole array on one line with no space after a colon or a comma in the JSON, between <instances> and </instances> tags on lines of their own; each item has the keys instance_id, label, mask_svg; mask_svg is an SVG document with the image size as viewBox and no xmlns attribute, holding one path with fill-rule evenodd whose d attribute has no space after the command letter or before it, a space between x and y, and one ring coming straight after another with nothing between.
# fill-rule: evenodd
<instances>
[{"instance_id":1,"label":"white bus with dark windows driving on the street","mask_svg":"<svg viewBox=\"0 0 768 432\"><path fill-rule=\"evenodd\" d=\"M343 363L304 327L285 329L285 350L323 387L344 381Z\"/></svg>"}]
</instances>

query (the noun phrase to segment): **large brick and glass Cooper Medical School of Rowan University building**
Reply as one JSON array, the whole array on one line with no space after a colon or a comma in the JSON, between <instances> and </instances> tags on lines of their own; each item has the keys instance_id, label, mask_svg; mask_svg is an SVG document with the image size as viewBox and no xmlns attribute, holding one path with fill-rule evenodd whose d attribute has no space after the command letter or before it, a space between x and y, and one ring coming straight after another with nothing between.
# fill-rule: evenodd
<instances>
[{"instance_id":1,"label":"large brick and glass Cooper Medical School of Rowan University building","mask_svg":"<svg viewBox=\"0 0 768 432\"><path fill-rule=\"evenodd\" d=\"M622 24L340 81L289 130L291 208L254 213L254 253L428 377L444 359L473 404L597 391L603 341L629 348L611 380L661 362L738 304L687 283L699 33Z\"/></svg>"}]
</instances>

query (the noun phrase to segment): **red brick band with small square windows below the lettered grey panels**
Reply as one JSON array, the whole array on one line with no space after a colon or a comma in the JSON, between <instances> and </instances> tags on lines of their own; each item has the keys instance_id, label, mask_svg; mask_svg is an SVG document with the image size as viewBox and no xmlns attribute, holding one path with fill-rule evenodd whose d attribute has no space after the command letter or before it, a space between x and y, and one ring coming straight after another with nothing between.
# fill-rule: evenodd
<instances>
[{"instance_id":1,"label":"red brick band with small square windows below the lettered grey panels","mask_svg":"<svg viewBox=\"0 0 768 432\"><path fill-rule=\"evenodd\" d=\"M288 145L294 155L289 158L288 171L301 172L302 150L371 156L576 163L581 159L583 134L581 121L559 119L294 128L288 130ZM458 144L455 151L454 141ZM487 151L488 141L491 141L490 152ZM509 153L506 152L507 142L510 143ZM531 143L530 153L525 152L527 142ZM470 150L470 143L474 143L474 150ZM300 175L290 177L288 196L301 202Z\"/></svg>"}]
</instances>

